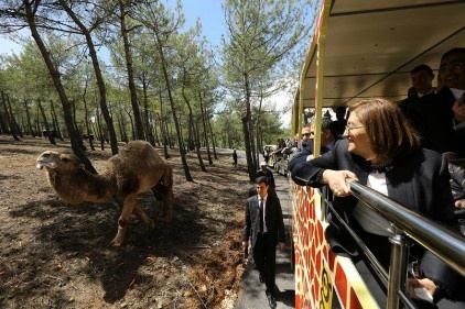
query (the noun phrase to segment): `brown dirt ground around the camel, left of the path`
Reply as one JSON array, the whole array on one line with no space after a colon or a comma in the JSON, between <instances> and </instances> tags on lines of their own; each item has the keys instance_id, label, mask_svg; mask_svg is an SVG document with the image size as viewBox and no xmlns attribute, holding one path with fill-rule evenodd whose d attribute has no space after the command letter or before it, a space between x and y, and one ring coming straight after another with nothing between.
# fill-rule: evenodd
<instances>
[{"instance_id":1,"label":"brown dirt ground around the camel, left of the path","mask_svg":"<svg viewBox=\"0 0 465 309\"><path fill-rule=\"evenodd\" d=\"M125 245L110 249L118 201L69 206L35 168L45 150L71 151L45 139L0 135L0 308L233 308L244 272L240 232L251 187L230 155L199 170L194 153L186 181L176 151L174 219L158 219L160 202L140 197L155 220L132 216ZM162 151L160 151L162 154ZM110 157L88 152L97 170ZM206 158L206 155L204 156Z\"/></svg>"}]
</instances>

